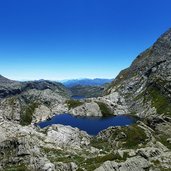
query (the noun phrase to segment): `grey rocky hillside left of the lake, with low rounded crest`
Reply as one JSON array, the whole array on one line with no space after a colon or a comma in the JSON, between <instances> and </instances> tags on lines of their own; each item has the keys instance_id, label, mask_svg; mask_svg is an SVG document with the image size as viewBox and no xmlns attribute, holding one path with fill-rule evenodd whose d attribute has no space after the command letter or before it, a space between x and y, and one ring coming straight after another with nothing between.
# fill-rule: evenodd
<instances>
[{"instance_id":1,"label":"grey rocky hillside left of the lake, with low rounded crest","mask_svg":"<svg viewBox=\"0 0 171 171\"><path fill-rule=\"evenodd\" d=\"M67 110L70 92L61 83L0 81L0 115L7 120L28 125Z\"/></svg>"}]
</instances>

